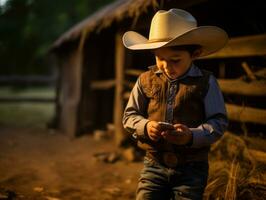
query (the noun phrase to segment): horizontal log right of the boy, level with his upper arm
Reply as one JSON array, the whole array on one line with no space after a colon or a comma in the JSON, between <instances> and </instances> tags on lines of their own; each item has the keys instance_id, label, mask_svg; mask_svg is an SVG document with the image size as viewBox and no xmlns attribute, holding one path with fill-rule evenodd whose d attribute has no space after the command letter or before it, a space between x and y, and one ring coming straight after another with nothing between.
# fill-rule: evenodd
<instances>
[{"instance_id":1,"label":"horizontal log right of the boy, level with his upper arm","mask_svg":"<svg viewBox=\"0 0 266 200\"><path fill-rule=\"evenodd\" d=\"M266 96L266 81L245 82L242 79L218 79L223 93L247 96Z\"/></svg>"}]
</instances>

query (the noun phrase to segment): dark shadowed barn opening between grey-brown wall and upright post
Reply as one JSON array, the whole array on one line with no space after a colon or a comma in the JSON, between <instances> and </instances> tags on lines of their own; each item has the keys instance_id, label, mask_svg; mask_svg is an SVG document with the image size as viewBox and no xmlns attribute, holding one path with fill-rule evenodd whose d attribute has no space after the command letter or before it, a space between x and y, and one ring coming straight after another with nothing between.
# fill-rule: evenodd
<instances>
[{"instance_id":1,"label":"dark shadowed barn opening between grey-brown wall and upright post","mask_svg":"<svg viewBox=\"0 0 266 200\"><path fill-rule=\"evenodd\" d=\"M112 122L114 88L93 90L95 80L114 79L114 31L91 35L84 46L79 133L105 128Z\"/></svg>"}]
</instances>

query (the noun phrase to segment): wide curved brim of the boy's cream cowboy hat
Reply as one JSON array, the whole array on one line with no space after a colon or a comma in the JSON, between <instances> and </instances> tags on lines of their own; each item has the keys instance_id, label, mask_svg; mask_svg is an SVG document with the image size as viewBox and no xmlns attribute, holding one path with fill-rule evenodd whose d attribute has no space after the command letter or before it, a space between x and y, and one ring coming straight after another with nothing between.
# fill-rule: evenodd
<instances>
[{"instance_id":1,"label":"wide curved brim of the boy's cream cowboy hat","mask_svg":"<svg viewBox=\"0 0 266 200\"><path fill-rule=\"evenodd\" d=\"M146 37L135 31L123 35L123 44L131 50L149 50L178 45L200 45L200 57L207 56L223 48L228 40L227 33L216 26L200 26L164 42L150 42Z\"/></svg>"}]
</instances>

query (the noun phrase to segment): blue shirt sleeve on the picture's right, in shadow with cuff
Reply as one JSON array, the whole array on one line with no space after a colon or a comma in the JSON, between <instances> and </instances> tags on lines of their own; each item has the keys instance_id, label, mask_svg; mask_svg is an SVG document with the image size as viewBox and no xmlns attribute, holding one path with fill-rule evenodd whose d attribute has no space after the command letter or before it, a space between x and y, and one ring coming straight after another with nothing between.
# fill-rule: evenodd
<instances>
[{"instance_id":1,"label":"blue shirt sleeve on the picture's right, in shadow with cuff","mask_svg":"<svg viewBox=\"0 0 266 200\"><path fill-rule=\"evenodd\" d=\"M209 89L204 98L204 106L205 123L197 128L190 128L193 134L192 148L209 146L216 142L228 126L223 95L213 75L209 79Z\"/></svg>"}]
</instances>

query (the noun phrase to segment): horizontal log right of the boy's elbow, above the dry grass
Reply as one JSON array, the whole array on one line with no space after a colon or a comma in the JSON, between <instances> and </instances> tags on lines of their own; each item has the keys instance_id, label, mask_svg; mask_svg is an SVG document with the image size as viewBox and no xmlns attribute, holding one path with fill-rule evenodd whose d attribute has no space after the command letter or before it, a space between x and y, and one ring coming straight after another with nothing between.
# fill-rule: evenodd
<instances>
[{"instance_id":1,"label":"horizontal log right of the boy's elbow, above the dry grass","mask_svg":"<svg viewBox=\"0 0 266 200\"><path fill-rule=\"evenodd\" d=\"M229 120L266 125L266 110L226 104Z\"/></svg>"}]
</instances>

